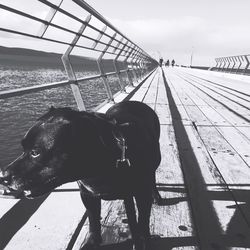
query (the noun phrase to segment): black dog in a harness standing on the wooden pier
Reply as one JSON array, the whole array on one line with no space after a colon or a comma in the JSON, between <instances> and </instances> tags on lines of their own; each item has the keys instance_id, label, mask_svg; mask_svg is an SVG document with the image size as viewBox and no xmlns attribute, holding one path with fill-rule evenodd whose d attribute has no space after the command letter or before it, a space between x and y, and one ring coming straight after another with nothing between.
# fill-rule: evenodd
<instances>
[{"instance_id":1,"label":"black dog in a harness standing on the wooden pier","mask_svg":"<svg viewBox=\"0 0 250 250\"><path fill-rule=\"evenodd\" d=\"M135 249L150 249L159 135L157 115L140 102L115 104L106 114L51 108L24 136L23 154L0 172L0 183L16 198L34 198L78 181L89 217L86 248L101 243L101 199L123 199Z\"/></svg>"}]
</instances>

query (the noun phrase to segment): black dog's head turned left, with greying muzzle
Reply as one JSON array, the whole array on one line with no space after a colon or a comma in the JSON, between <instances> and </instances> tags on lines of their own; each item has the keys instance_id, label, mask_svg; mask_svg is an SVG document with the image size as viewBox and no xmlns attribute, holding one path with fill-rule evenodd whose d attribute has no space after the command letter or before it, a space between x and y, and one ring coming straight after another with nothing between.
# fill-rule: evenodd
<instances>
[{"instance_id":1,"label":"black dog's head turned left, with greying muzzle","mask_svg":"<svg viewBox=\"0 0 250 250\"><path fill-rule=\"evenodd\" d=\"M16 198L37 197L81 177L77 154L88 147L92 128L84 119L74 120L76 112L51 108L28 130L21 142L22 155L0 171L0 184ZM82 126L81 132L76 126Z\"/></svg>"}]
</instances>

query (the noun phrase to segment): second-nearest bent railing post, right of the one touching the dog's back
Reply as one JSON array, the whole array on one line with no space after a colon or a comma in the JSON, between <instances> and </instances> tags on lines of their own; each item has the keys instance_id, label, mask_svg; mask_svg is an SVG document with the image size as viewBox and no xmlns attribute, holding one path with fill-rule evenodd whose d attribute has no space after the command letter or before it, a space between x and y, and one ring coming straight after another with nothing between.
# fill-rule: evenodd
<instances>
[{"instance_id":1,"label":"second-nearest bent railing post, right of the one touching the dog's back","mask_svg":"<svg viewBox=\"0 0 250 250\"><path fill-rule=\"evenodd\" d=\"M109 83L108 83L108 80L107 80L107 76L105 75L105 72L104 72L104 69L103 69L103 66L102 66L102 58L106 54L109 46L111 45L111 43L113 42L115 37L116 37L116 33L114 33L114 35L110 38L108 44L106 45L106 47L102 51L101 55L97 59L97 65L98 65L98 68L99 68L99 71L100 71L100 76L101 76L101 78L103 80L109 102L111 102L111 101L114 102L114 97L113 97L112 91L110 89L110 86L109 86Z\"/></svg>"}]
</instances>

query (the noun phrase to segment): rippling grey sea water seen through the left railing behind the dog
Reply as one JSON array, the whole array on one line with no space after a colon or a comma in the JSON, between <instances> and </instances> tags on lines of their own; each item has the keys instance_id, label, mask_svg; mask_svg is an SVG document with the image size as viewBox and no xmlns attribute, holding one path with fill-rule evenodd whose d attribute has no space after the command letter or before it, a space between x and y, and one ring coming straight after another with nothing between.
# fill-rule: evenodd
<instances>
[{"instance_id":1,"label":"rippling grey sea water seen through the left railing behind the dog","mask_svg":"<svg viewBox=\"0 0 250 250\"><path fill-rule=\"evenodd\" d=\"M95 69L76 72L77 77L98 75ZM0 91L67 80L60 67L46 68L33 65L1 65ZM119 91L118 79L108 77L113 93ZM107 98L102 79L84 81L80 91L87 110ZM20 141L25 132L51 106L77 108L71 87L43 90L22 96L0 99L0 168L13 161L22 152Z\"/></svg>"}]
</instances>

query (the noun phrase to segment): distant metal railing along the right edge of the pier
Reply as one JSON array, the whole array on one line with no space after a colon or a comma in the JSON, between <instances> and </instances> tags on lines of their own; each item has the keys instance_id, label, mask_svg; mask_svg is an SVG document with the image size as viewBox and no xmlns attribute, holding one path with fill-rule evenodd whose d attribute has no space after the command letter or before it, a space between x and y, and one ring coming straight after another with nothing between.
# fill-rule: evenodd
<instances>
[{"instance_id":1,"label":"distant metal railing along the right edge of the pier","mask_svg":"<svg viewBox=\"0 0 250 250\"><path fill-rule=\"evenodd\" d=\"M250 55L238 55L215 58L214 71L234 74L250 74Z\"/></svg>"}]
</instances>

